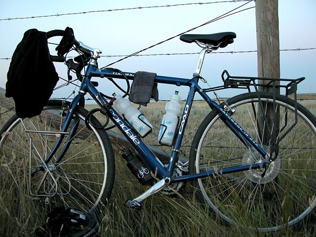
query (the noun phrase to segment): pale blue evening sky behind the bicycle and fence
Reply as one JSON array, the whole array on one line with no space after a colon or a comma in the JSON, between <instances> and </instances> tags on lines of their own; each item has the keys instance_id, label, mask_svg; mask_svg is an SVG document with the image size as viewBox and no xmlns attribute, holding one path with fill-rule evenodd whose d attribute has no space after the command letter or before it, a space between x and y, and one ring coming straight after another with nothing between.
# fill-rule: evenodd
<instances>
[{"instance_id":1,"label":"pale blue evening sky behind the bicycle and fence","mask_svg":"<svg viewBox=\"0 0 316 237\"><path fill-rule=\"evenodd\" d=\"M212 4L192 4L184 6L142 8L135 10L105 11L98 13L68 16L37 17L81 13L88 11L115 10L135 7L167 6L185 3L214 2L215 0L5 0L0 8L0 58L11 58L16 46L28 29L39 31L65 29L71 27L77 40L91 48L100 49L104 56L98 60L103 67L121 57L140 51L160 41L183 33L209 20L221 16L246 2L221 2ZM216 0L223 1L223 0ZM255 6L252 1L246 7ZM244 7L244 8L246 8ZM316 48L316 1L279 0L280 49ZM11 19L15 17L36 17L30 19ZM220 19L200 27L190 34L213 34L234 32L237 37L233 44L214 52L255 51L256 21L255 9ZM60 40L58 38L57 40ZM193 53L201 49L196 44L187 44L176 37L141 54ZM50 47L55 54L54 47ZM75 56L75 55L73 55ZM112 65L124 72L149 71L162 76L191 78L196 68L198 54L130 57ZM281 51L281 78L306 77L298 85L298 93L316 92L316 50ZM6 73L10 60L0 60L0 87L5 88ZM66 78L67 68L62 63L55 64L59 76ZM223 85L222 71L230 75L257 76L257 53L213 53L207 54L201 74L210 86ZM27 77L26 77L27 80ZM119 91L106 79L98 79L98 90L107 95ZM43 75L43 83L45 75ZM122 82L123 83L123 82ZM60 80L59 84L62 84ZM123 84L122 84L123 85ZM200 82L202 88L209 87ZM70 96L72 85L56 90L54 98ZM159 99L168 100L175 90L186 98L188 88L172 85L158 85ZM219 91L220 97L241 93L242 90ZM210 94L213 98L213 95ZM198 99L198 98L197 98Z\"/></svg>"}]
</instances>

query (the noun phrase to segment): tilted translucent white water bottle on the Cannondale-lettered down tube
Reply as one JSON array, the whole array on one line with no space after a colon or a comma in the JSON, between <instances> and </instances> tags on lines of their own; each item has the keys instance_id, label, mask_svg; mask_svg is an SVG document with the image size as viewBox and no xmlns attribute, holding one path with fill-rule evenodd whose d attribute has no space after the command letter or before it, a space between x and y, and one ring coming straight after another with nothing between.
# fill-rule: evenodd
<instances>
[{"instance_id":1,"label":"tilted translucent white water bottle on the Cannondale-lettered down tube","mask_svg":"<svg viewBox=\"0 0 316 237\"><path fill-rule=\"evenodd\" d=\"M125 119L134 127L141 137L147 135L153 127L148 120L141 115L137 108L132 107L130 101L123 99L119 94L116 95L114 93L113 96L116 98L114 103L117 104L118 111L124 115Z\"/></svg>"}]
</instances>

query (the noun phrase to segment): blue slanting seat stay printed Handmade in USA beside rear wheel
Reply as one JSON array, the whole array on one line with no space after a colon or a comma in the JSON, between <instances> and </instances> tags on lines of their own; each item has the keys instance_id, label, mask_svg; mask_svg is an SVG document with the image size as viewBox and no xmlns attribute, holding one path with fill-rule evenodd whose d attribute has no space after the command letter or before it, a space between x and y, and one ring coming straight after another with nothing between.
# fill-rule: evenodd
<instances>
[{"instance_id":1,"label":"blue slanting seat stay printed Handmade in USA beside rear wheel","mask_svg":"<svg viewBox=\"0 0 316 237\"><path fill-rule=\"evenodd\" d=\"M197 85L198 86L198 85ZM199 86L198 86L199 87ZM218 110L219 113L222 114L223 122L230 128L230 130L245 144L245 140L249 143L249 145L253 146L264 158L268 158L268 155L263 149L258 145L258 143L246 133L246 131L234 120L230 117L226 111L221 108L217 103L211 100L211 98L201 90L198 90L199 94L203 97L205 101L207 101L212 109Z\"/></svg>"}]
</instances>

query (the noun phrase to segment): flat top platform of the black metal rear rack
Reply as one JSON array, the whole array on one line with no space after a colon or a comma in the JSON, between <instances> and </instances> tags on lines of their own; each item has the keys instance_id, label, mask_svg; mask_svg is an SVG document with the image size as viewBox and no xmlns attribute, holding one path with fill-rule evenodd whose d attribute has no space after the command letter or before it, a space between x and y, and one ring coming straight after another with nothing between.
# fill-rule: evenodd
<instances>
[{"instance_id":1,"label":"flat top platform of the black metal rear rack","mask_svg":"<svg viewBox=\"0 0 316 237\"><path fill-rule=\"evenodd\" d=\"M222 80L224 85L205 88L203 91L210 92L216 90L222 90L227 88L240 88L248 89L251 92L251 88L254 88L255 91L258 91L258 87L270 87L275 93L276 88L285 88L285 96L291 95L296 92L298 83L302 82L305 77L300 77L298 79L281 79L281 78L265 78L265 77L239 77L239 76L230 76L227 70L224 70L222 73ZM262 80L264 83L256 82L256 80Z\"/></svg>"}]
</instances>

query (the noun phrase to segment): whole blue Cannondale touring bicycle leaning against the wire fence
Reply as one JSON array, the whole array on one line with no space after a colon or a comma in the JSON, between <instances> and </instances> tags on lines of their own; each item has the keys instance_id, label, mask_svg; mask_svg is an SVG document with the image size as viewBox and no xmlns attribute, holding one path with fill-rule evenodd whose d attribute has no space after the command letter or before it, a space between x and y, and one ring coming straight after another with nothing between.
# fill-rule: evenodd
<instances>
[{"instance_id":1,"label":"whole blue Cannondale touring bicycle leaning against the wire fence","mask_svg":"<svg viewBox=\"0 0 316 237\"><path fill-rule=\"evenodd\" d=\"M63 34L59 30L48 33L50 37ZM205 54L226 47L235 37L229 32L183 34L182 41L202 48L193 77L156 76L158 84L188 88L167 163L116 111L114 98L98 91L93 81L125 80L125 97L135 73L98 68L101 51L73 38L71 46L80 53L79 59L66 64L81 82L74 99L51 100L32 118L13 116L0 131L0 184L5 190L1 202L7 212L18 216L25 205L32 206L32 210L24 209L32 215L35 208L62 205L100 215L114 183L115 158L106 132L111 120L134 147L137 154L132 155L145 165L142 173L149 170L155 176L144 193L126 202L129 208L140 209L150 196L181 191L191 181L197 200L226 223L272 232L308 218L316 205L316 118L296 101L297 85L304 78L236 77L224 71L223 85L201 87L206 83L200 74ZM222 103L207 94L227 88L248 92ZM284 96L277 93L280 88ZM179 155L195 93L210 111L205 112L208 115L196 130L188 162L184 162ZM84 108L87 94L99 109ZM291 94L294 99L288 97ZM101 123L96 113L105 121ZM31 216L24 224L32 226L36 221Z\"/></svg>"}]
</instances>

